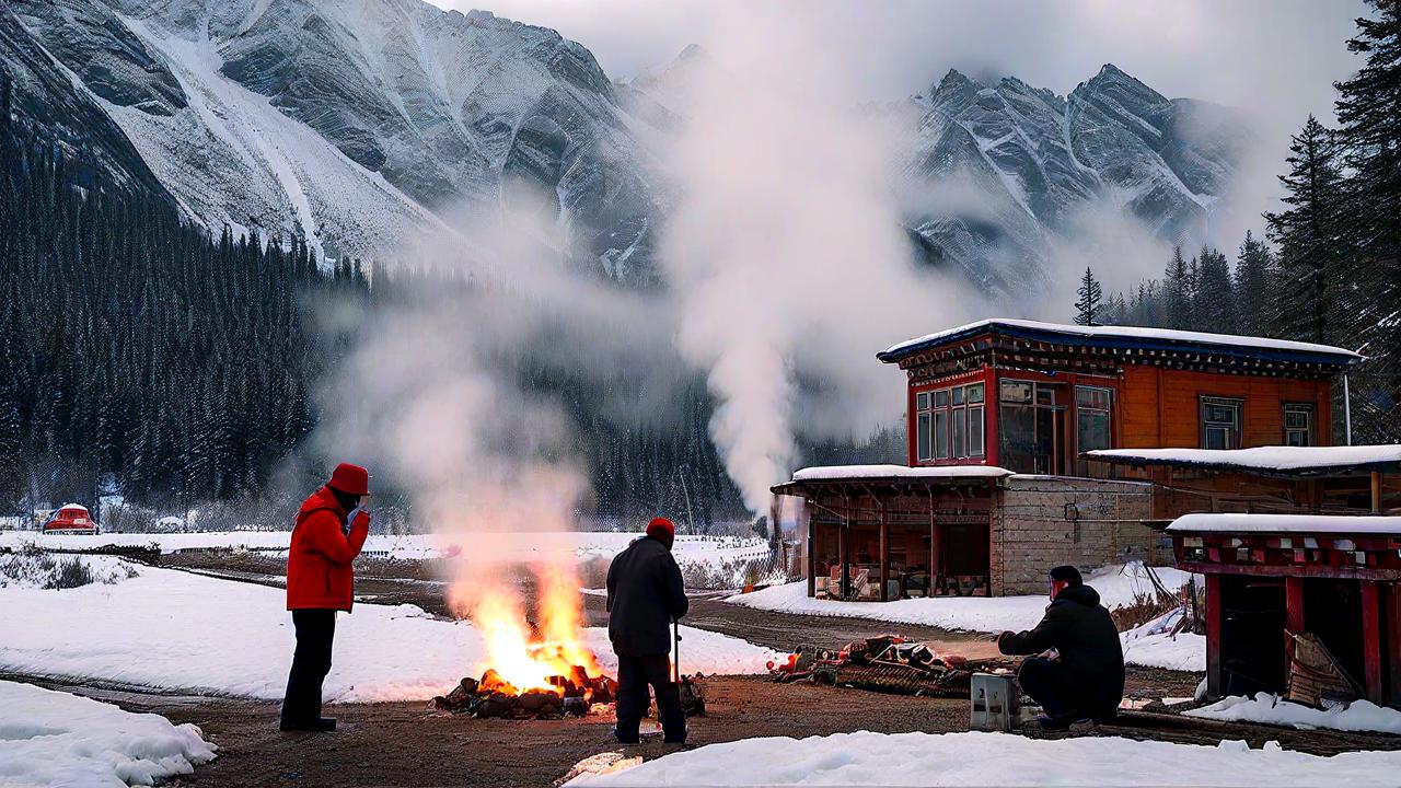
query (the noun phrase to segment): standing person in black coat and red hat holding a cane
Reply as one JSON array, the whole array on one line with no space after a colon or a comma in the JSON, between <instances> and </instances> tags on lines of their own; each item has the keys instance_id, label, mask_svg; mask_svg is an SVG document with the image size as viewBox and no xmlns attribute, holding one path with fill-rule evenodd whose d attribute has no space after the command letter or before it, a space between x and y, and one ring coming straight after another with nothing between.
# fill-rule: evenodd
<instances>
[{"instance_id":1,"label":"standing person in black coat and red hat holding a cane","mask_svg":"<svg viewBox=\"0 0 1401 788\"><path fill-rule=\"evenodd\" d=\"M663 740L686 740L681 690L671 679L671 623L686 614L685 583L671 557L675 526L665 517L647 524L647 536L633 541L608 566L608 639L618 655L618 726L623 745L639 742L647 711L647 686L657 695Z\"/></svg>"}]
</instances>

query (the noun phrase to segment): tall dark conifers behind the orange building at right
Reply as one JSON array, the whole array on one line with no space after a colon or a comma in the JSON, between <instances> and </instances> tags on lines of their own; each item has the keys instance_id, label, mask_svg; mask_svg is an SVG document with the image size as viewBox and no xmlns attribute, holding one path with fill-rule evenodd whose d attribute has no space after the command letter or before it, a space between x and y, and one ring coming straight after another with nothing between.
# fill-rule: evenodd
<instances>
[{"instance_id":1,"label":"tall dark conifers behind the orange building at right","mask_svg":"<svg viewBox=\"0 0 1401 788\"><path fill-rule=\"evenodd\" d=\"M1401 442L1401 3L1369 0L1337 83L1337 125L1293 135L1283 206L1234 259L1177 248L1160 279L1107 300L1097 322L1251 334L1360 349L1353 439ZM1191 254L1188 258L1187 255ZM1091 275L1093 276L1093 275ZM1082 285L1083 289L1083 285ZM1077 304L1079 313L1079 304Z\"/></svg>"}]
</instances>

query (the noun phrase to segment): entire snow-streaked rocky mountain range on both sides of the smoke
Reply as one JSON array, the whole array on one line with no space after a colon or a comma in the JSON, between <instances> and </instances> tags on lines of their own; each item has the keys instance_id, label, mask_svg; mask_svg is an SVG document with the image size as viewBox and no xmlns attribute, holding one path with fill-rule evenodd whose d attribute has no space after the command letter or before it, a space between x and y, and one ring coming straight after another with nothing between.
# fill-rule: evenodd
<instances>
[{"instance_id":1,"label":"entire snow-streaked rocky mountain range on both sides of the smoke","mask_svg":"<svg viewBox=\"0 0 1401 788\"><path fill-rule=\"evenodd\" d=\"M654 276L651 234L677 188L658 157L719 67L688 48L614 83L555 31L423 0L0 6L17 111L212 229L296 233L333 255L426 233L472 248L457 217L528 185L553 199L580 262L626 283ZM993 293L1045 278L1047 250L1090 205L1201 240L1250 140L1231 111L1114 66L1068 97L950 72L894 114L909 119L891 153L913 245Z\"/></svg>"}]
</instances>

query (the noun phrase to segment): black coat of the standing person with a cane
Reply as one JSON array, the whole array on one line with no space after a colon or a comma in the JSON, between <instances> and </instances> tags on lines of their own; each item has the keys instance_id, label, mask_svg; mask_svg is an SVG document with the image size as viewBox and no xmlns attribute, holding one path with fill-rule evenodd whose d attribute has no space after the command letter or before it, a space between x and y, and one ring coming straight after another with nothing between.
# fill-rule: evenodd
<instances>
[{"instance_id":1,"label":"black coat of the standing person with a cane","mask_svg":"<svg viewBox=\"0 0 1401 788\"><path fill-rule=\"evenodd\" d=\"M628 545L608 566L608 638L618 653L668 653L671 620L685 616L689 604L681 566L650 536Z\"/></svg>"}]
</instances>

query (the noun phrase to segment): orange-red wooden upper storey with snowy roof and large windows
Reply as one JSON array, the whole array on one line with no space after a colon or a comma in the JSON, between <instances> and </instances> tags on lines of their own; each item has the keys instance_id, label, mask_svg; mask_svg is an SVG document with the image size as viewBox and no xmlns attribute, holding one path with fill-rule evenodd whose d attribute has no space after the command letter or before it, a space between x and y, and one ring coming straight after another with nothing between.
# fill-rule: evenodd
<instances>
[{"instance_id":1,"label":"orange-red wooden upper storey with snowy roof and large windows","mask_svg":"<svg viewBox=\"0 0 1401 788\"><path fill-rule=\"evenodd\" d=\"M1328 446L1342 348L984 320L877 358L908 380L908 463L1101 475L1112 447Z\"/></svg>"}]
</instances>

